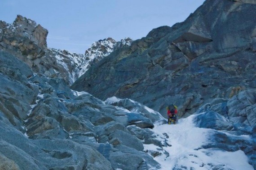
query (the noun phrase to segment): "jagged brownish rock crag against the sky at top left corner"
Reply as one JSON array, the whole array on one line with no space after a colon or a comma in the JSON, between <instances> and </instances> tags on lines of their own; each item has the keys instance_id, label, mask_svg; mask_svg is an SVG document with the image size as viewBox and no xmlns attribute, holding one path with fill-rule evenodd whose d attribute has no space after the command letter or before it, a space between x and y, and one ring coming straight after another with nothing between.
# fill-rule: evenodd
<instances>
[{"instance_id":1,"label":"jagged brownish rock crag against the sky at top left corner","mask_svg":"<svg viewBox=\"0 0 256 170\"><path fill-rule=\"evenodd\" d=\"M46 37L48 30L35 21L17 16L13 24L0 21L0 49L22 53L29 59L40 58L47 49Z\"/></svg>"}]
</instances>

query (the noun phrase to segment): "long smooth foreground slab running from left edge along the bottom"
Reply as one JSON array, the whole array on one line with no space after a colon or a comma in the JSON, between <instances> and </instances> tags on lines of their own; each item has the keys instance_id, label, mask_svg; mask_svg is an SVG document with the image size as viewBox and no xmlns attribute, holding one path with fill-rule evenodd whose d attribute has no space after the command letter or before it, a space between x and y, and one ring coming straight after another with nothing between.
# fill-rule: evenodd
<instances>
[{"instance_id":1,"label":"long smooth foreground slab running from left edge along the bottom","mask_svg":"<svg viewBox=\"0 0 256 170\"><path fill-rule=\"evenodd\" d=\"M29 140L21 132L0 123L1 155L20 169L112 170L110 162L90 146L70 140Z\"/></svg>"}]
</instances>

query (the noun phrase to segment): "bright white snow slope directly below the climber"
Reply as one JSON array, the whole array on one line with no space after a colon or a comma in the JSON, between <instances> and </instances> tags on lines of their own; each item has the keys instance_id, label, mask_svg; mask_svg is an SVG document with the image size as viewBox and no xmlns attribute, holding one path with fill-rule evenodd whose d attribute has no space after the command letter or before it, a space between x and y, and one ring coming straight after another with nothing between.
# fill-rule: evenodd
<instances>
[{"instance_id":1,"label":"bright white snow slope directly below the climber","mask_svg":"<svg viewBox=\"0 0 256 170\"><path fill-rule=\"evenodd\" d=\"M154 124L153 131L159 136L159 140L168 135L168 143L171 147L163 147L168 154L161 154L154 157L163 170L186 169L190 170L253 170L252 165L248 163L248 158L241 150L236 152L227 152L221 149L203 149L201 146L210 142L209 136L216 130L195 127L194 117L179 119L175 125ZM163 135L165 134L165 135ZM248 136L236 136L248 137ZM159 151L159 147L150 144L144 144L144 150Z\"/></svg>"}]
</instances>

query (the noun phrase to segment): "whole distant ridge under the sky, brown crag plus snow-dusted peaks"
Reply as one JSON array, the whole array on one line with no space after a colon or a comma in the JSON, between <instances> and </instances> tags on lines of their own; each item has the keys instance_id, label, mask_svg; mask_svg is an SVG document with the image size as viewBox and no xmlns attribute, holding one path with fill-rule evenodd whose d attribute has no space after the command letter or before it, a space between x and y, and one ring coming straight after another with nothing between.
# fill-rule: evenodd
<instances>
[{"instance_id":1,"label":"whole distant ridge under the sky, brown crag plus snow-dusted peaks","mask_svg":"<svg viewBox=\"0 0 256 170\"><path fill-rule=\"evenodd\" d=\"M85 54L48 48L48 30L35 21L17 16L13 24L0 21L0 50L8 51L28 64L34 72L62 77L72 85L88 68L118 48L129 46L131 38L115 41L106 38L94 42Z\"/></svg>"}]
</instances>

